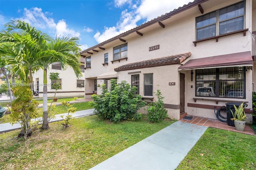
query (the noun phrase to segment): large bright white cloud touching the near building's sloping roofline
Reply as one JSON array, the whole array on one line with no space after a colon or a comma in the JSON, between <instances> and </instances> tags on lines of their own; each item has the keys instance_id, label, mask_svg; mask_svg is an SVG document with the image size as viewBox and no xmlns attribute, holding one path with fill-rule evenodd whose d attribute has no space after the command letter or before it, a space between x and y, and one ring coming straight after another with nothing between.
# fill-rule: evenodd
<instances>
[{"instance_id":1,"label":"large bright white cloud touching the near building's sloping roofline","mask_svg":"<svg viewBox=\"0 0 256 170\"><path fill-rule=\"evenodd\" d=\"M191 0L142 0L141 4L138 4L138 1L136 1L136 4L132 4L131 0L115 0L116 7L124 6L124 4L127 3L130 5L130 11L128 11L128 9L123 10L116 26L105 27L104 31L102 33L97 32L94 38L98 43L104 42L135 28L137 26L136 23L142 18L145 18L147 21L152 20L175 8L188 4L190 1Z\"/></svg>"}]
</instances>

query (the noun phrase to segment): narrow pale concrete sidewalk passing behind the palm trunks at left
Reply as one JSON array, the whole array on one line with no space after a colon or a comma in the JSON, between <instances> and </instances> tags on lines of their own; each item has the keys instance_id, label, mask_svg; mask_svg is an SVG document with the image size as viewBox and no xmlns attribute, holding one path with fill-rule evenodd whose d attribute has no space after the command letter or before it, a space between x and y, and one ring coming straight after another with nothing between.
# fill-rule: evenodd
<instances>
[{"instance_id":1,"label":"narrow pale concrete sidewalk passing behind the palm trunks at left","mask_svg":"<svg viewBox=\"0 0 256 170\"><path fill-rule=\"evenodd\" d=\"M72 114L72 117L80 118L80 117L85 117L85 116L89 116L89 115L94 115L93 111L94 111L94 109L76 111L75 113ZM52 122L61 121L62 120L62 118L60 117L61 115L66 116L66 115L68 115L68 113L55 115L55 119L53 119ZM39 118L39 119L42 120L42 118ZM34 119L31 119L31 121L34 121ZM0 124L0 133L9 132L9 131L16 130L19 128L21 128L19 123L16 123L14 125L11 125L10 123L2 123L2 124Z\"/></svg>"}]
</instances>

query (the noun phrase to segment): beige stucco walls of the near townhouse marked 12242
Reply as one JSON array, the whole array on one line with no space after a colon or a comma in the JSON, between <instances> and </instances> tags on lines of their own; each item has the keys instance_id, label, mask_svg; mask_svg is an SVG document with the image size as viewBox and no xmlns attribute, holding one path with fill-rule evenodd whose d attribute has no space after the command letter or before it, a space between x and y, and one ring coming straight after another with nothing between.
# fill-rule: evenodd
<instances>
[{"instance_id":1,"label":"beige stucco walls of the near townhouse marked 12242","mask_svg":"<svg viewBox=\"0 0 256 170\"><path fill-rule=\"evenodd\" d=\"M211 3L215 5L211 6ZM240 0L224 0L224 1L207 1L202 5L204 8L204 14L218 10L230 4L240 2ZM207 8L206 8L207 7ZM188 15L189 14L189 15ZM246 36L243 33L238 33L226 37L221 37L216 42L215 39L197 43L194 46L193 41L196 40L196 26L195 18L202 14L198 8L193 8L172 16L170 23L165 23L165 28L156 27L155 30L144 32L143 36L135 36L133 38L123 37L128 43L128 60L121 60L120 62L113 60L113 47L123 44L123 42L116 42L111 47L106 47L105 50L99 50L98 53L94 52L91 55L91 68L85 70L85 77L92 78L97 77L104 73L114 74L114 68L128 63L139 62L143 60L149 60L154 58L160 58L180 53L186 53L190 51L192 53L189 59L198 59L216 55L224 55L229 53L238 53L244 51L252 51L252 28L255 26L255 22L252 24L252 19L255 18L255 10L253 11L252 17L252 0L246 0L246 14L244 29L248 28ZM253 42L254 43L254 42ZM154 45L160 45L160 49L149 51L148 48ZM104 47L104 46L103 46ZM104 53L108 53L108 65L103 66ZM86 55L89 56L89 55ZM232 59L230 59L232 60ZM131 75L128 72L141 71L140 75L150 72L154 73L154 91L157 86L160 85L160 89L165 97L164 103L178 105L179 99L179 72L178 65L170 65L163 67L150 67L145 69L136 69L130 71L118 72L118 82L122 80L131 82ZM193 75L193 81L191 81L190 71L181 71L185 74L185 112L191 115L197 115L202 117L208 117L216 119L214 110L212 109L201 109L188 107L188 103L194 103L193 98L195 97L195 74ZM155 76L157 75L157 76ZM252 107L252 77L255 75L253 71L246 72L246 99L248 105ZM169 86L168 82L177 82L176 86ZM98 80L98 83L99 80ZM192 85L192 88L191 88ZM87 90L86 90L87 91ZM91 89L89 90L91 91ZM143 76L140 76L140 95L143 95ZM155 98L154 98L155 99ZM209 98L208 98L209 99ZM223 99L223 98L220 98ZM238 101L239 99L232 99L232 101ZM240 101L240 100L239 100ZM219 102L218 106L225 105L227 102ZM196 104L202 105L216 105L215 101L202 101L198 100ZM179 119L179 110L168 111L168 115L174 119Z\"/></svg>"}]
</instances>

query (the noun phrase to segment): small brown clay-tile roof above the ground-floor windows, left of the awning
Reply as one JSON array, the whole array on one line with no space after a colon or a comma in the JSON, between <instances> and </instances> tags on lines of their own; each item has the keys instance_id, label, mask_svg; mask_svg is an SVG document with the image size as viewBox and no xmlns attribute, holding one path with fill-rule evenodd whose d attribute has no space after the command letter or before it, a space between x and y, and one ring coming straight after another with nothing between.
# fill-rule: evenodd
<instances>
[{"instance_id":1,"label":"small brown clay-tile roof above the ground-floor windows, left of the awning","mask_svg":"<svg viewBox=\"0 0 256 170\"><path fill-rule=\"evenodd\" d=\"M115 71L125 71L125 70L132 70L132 69L140 69L146 67L159 67L163 65L172 65L172 64L180 64L188 57L190 57L191 53L182 53L171 55L168 57L161 57L156 59L144 60L136 63L129 63L126 65L122 65L120 67L115 68Z\"/></svg>"}]
</instances>

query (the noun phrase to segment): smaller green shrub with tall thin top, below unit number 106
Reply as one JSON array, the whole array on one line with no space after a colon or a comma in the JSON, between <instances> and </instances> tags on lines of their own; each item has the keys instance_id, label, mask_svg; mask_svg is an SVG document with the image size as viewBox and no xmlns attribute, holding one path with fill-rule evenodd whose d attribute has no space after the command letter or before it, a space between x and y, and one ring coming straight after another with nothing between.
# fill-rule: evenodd
<instances>
[{"instance_id":1,"label":"smaller green shrub with tall thin top, below unit number 106","mask_svg":"<svg viewBox=\"0 0 256 170\"><path fill-rule=\"evenodd\" d=\"M168 117L167 110L164 109L164 97L162 97L162 93L159 89L157 90L156 96L158 101L150 103L147 106L148 119L150 122L162 122L162 120Z\"/></svg>"}]
</instances>

